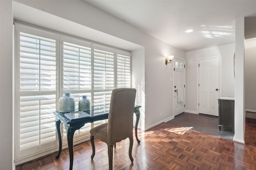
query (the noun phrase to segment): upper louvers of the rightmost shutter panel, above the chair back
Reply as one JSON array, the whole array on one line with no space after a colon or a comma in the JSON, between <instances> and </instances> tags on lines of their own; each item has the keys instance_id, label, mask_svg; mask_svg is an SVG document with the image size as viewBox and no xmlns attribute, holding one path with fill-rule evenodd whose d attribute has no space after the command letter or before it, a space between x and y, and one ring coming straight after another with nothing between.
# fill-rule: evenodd
<instances>
[{"instance_id":1,"label":"upper louvers of the rightmost shutter panel, above the chair back","mask_svg":"<svg viewBox=\"0 0 256 170\"><path fill-rule=\"evenodd\" d=\"M130 53L116 50L117 53L117 88L131 87L131 57Z\"/></svg>"}]
</instances>

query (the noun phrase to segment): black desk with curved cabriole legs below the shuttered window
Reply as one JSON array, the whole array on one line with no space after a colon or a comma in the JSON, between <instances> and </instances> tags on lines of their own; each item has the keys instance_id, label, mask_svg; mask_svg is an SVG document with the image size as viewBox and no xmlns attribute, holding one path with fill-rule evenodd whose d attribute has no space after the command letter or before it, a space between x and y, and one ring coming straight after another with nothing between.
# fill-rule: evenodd
<instances>
[{"instance_id":1,"label":"black desk with curved cabriole legs below the shuttered window","mask_svg":"<svg viewBox=\"0 0 256 170\"><path fill-rule=\"evenodd\" d=\"M136 114L135 137L138 143L140 143L140 140L138 139L138 136L137 136L138 123L140 119L140 107L141 106L134 106L134 113ZM60 133L60 122L62 122L64 123L64 127L67 132L68 151L69 151L69 159L70 159L69 169L72 170L73 159L74 159L73 138L74 138L75 131L83 127L85 123L92 123L94 121L108 119L108 113L102 113L99 115L92 115L90 117L84 117L84 118L73 119L73 120L69 120L68 118L66 118L64 116L64 113L54 112L54 115L56 115L55 125L56 125L56 131L59 139L59 151L55 155L55 157L59 158L62 150L62 135Z\"/></svg>"}]
</instances>

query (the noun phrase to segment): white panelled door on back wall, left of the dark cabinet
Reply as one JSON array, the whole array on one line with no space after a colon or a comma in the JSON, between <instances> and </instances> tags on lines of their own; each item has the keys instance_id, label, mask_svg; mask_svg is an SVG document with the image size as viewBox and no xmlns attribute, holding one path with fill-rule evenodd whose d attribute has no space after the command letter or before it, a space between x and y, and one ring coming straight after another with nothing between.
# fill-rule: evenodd
<instances>
[{"instance_id":1,"label":"white panelled door on back wall, left of the dark cabinet","mask_svg":"<svg viewBox=\"0 0 256 170\"><path fill-rule=\"evenodd\" d=\"M199 60L199 113L218 116L220 58Z\"/></svg>"}]
</instances>

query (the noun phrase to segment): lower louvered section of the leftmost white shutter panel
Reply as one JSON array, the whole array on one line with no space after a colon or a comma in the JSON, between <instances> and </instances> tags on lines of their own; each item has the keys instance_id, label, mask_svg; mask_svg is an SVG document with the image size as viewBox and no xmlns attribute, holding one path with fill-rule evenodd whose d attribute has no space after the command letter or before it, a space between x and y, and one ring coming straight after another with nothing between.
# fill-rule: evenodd
<instances>
[{"instance_id":1,"label":"lower louvered section of the leftmost white shutter panel","mask_svg":"<svg viewBox=\"0 0 256 170\"><path fill-rule=\"evenodd\" d=\"M20 150L54 142L55 95L20 97Z\"/></svg>"}]
</instances>

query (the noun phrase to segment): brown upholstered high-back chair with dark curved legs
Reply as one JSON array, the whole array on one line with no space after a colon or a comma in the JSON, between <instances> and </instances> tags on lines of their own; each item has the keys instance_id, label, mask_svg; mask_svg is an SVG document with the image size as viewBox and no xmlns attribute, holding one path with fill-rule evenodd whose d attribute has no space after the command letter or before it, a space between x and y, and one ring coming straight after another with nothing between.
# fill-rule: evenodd
<instances>
[{"instance_id":1,"label":"brown upholstered high-back chair with dark curved legs","mask_svg":"<svg viewBox=\"0 0 256 170\"><path fill-rule=\"evenodd\" d=\"M98 125L90 130L92 156L95 155L94 137L108 145L108 167L113 166L113 147L117 142L129 138L129 158L132 158L133 145L133 112L135 103L135 88L117 88L112 91L108 123Z\"/></svg>"}]
</instances>

